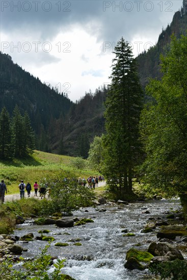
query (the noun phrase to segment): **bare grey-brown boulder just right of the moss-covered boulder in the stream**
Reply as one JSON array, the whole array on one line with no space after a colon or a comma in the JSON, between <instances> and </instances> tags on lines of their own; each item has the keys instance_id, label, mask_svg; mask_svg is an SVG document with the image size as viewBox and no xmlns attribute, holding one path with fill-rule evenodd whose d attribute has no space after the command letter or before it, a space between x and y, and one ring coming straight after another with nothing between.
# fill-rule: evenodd
<instances>
[{"instance_id":1,"label":"bare grey-brown boulder just right of the moss-covered boulder in the stream","mask_svg":"<svg viewBox=\"0 0 187 280\"><path fill-rule=\"evenodd\" d=\"M168 257L169 261L184 259L180 251L168 242L153 242L150 244L148 252L151 253L154 257L166 256Z\"/></svg>"}]
</instances>

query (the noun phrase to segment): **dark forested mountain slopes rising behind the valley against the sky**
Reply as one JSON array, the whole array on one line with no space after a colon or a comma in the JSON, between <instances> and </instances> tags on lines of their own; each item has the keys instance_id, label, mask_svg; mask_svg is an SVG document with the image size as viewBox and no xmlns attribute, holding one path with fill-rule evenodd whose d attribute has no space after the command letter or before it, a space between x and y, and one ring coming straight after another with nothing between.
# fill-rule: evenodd
<instances>
[{"instance_id":1,"label":"dark forested mountain slopes rising behind the valley against the sky","mask_svg":"<svg viewBox=\"0 0 187 280\"><path fill-rule=\"evenodd\" d=\"M171 35L174 33L179 38L186 31L187 0L183 0L181 11L174 14L157 43L136 58L144 89L150 77L162 77L159 56L167 52ZM0 111L5 106L12 115L16 104L22 115L28 111L38 150L86 158L94 136L104 133L104 101L108 89L88 92L74 103L14 64L9 54L0 52L0 59Z\"/></svg>"}]
</instances>

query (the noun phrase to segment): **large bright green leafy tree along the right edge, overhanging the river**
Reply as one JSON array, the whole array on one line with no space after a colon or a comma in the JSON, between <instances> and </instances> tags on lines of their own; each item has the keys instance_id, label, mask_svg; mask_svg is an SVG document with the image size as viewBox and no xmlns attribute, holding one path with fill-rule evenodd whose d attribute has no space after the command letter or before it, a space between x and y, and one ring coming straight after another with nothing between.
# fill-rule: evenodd
<instances>
[{"instance_id":1,"label":"large bright green leafy tree along the right edge, overhanging the river","mask_svg":"<svg viewBox=\"0 0 187 280\"><path fill-rule=\"evenodd\" d=\"M147 153L144 179L150 189L172 196L187 191L187 36L173 36L170 47L162 57L162 80L151 80L147 87L155 101L143 111L141 133Z\"/></svg>"}]
</instances>

